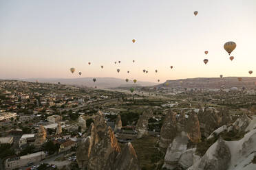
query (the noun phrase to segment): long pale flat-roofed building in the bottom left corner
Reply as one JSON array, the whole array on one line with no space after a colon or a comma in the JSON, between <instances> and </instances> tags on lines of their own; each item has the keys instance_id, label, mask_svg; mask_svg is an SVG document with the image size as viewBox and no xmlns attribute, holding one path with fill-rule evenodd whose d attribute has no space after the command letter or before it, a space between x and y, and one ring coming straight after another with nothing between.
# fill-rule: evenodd
<instances>
[{"instance_id":1,"label":"long pale flat-roofed building in the bottom left corner","mask_svg":"<svg viewBox=\"0 0 256 170\"><path fill-rule=\"evenodd\" d=\"M6 160L6 170L18 169L19 167L24 167L28 165L29 162L39 162L45 159L47 154L44 151L39 151L34 154L28 154L16 158L8 158Z\"/></svg>"}]
</instances>

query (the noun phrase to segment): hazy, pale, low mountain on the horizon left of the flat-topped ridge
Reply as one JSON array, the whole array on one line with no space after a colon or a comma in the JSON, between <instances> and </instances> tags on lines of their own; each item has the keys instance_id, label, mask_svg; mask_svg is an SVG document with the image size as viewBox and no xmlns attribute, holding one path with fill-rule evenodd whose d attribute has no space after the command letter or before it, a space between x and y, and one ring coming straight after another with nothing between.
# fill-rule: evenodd
<instances>
[{"instance_id":1,"label":"hazy, pale, low mountain on the horizon left of the flat-topped ridge","mask_svg":"<svg viewBox=\"0 0 256 170\"><path fill-rule=\"evenodd\" d=\"M38 80L41 83L58 83L61 84L72 84L72 85L83 85L87 87L97 86L98 88L116 88L119 86L131 86L134 84L131 80L125 82L125 80L114 78L114 77L96 77L96 82L92 81L93 77L81 77L74 79L63 79L63 78L31 78L31 79L22 79L27 82L36 82ZM136 86L154 86L156 83L153 82L136 82Z\"/></svg>"}]
</instances>

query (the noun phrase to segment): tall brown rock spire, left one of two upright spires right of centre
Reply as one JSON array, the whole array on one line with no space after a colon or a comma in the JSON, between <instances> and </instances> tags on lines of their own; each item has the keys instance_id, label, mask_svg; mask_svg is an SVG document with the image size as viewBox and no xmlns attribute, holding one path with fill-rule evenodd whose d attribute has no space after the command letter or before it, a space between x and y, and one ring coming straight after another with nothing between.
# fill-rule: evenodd
<instances>
[{"instance_id":1,"label":"tall brown rock spire, left one of two upright spires right of centre","mask_svg":"<svg viewBox=\"0 0 256 170\"><path fill-rule=\"evenodd\" d=\"M165 115L164 123L160 131L160 147L167 148L178 133L176 115L177 114L171 110Z\"/></svg>"}]
</instances>

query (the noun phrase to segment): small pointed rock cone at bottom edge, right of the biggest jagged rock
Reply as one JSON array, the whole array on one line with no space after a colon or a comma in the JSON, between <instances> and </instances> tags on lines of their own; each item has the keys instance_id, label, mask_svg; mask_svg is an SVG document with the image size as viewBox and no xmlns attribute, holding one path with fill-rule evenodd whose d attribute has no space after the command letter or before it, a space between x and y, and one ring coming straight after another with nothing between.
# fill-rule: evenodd
<instances>
[{"instance_id":1,"label":"small pointed rock cone at bottom edge, right of the biggest jagged rock","mask_svg":"<svg viewBox=\"0 0 256 170\"><path fill-rule=\"evenodd\" d=\"M112 169L140 170L136 151L134 150L134 147L131 145L131 143L127 143L125 145L125 148L122 149L121 153L118 154L114 163L114 167Z\"/></svg>"}]
</instances>

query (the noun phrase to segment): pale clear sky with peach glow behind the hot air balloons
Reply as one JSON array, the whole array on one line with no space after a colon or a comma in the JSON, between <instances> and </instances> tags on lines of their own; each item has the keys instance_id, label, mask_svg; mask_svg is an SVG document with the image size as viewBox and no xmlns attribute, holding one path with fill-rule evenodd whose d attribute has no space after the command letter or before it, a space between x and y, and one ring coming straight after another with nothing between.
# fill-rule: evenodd
<instances>
[{"instance_id":1,"label":"pale clear sky with peach glow behind the hot air balloons","mask_svg":"<svg viewBox=\"0 0 256 170\"><path fill-rule=\"evenodd\" d=\"M229 40L237 44L232 62L223 49ZM150 82L255 76L255 52L255 0L0 0L3 79L72 78L78 71Z\"/></svg>"}]
</instances>

